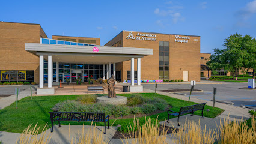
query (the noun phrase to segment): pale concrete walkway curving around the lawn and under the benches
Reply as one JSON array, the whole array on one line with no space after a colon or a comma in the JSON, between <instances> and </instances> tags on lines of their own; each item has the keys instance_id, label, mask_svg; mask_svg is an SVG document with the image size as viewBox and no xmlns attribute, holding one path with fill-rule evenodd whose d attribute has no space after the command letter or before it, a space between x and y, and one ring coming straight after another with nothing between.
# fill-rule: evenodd
<instances>
[{"instance_id":1,"label":"pale concrete walkway curving around the lawn and under the benches","mask_svg":"<svg viewBox=\"0 0 256 144\"><path fill-rule=\"evenodd\" d=\"M145 92L154 92L150 89L144 89L144 91ZM33 89L33 92L35 92L34 89ZM187 100L187 97L185 97L183 95L175 95L175 94L169 94L167 92L159 92L159 91L157 91L157 93L162 94L162 95L167 95L169 97ZM30 89L29 88L25 89L24 91L20 92L19 99L26 97L29 94L30 94ZM15 100L16 100L16 95L11 95L10 97L2 98L0 100L1 109L10 105ZM207 102L207 105L212 106L212 101L199 100L197 98L190 98L190 101L194 101L196 103ZM246 108L231 106L231 105L222 104L222 103L215 103L215 106L219 107L221 109L224 109L225 111L221 115L217 116L214 119L212 119L212 118L204 118L203 119L197 115L194 115L194 116L184 115L184 116L181 116L181 118L180 118L181 125L184 124L186 119L190 119L195 122L198 122L198 120L200 120L200 125L202 128L204 128L204 125L206 125L206 128L215 129L216 128L215 122L217 122L217 124L219 124L219 121L222 121L223 118L227 118L228 115L231 120L234 118L248 119L250 117L250 115L248 113L249 109L246 109ZM175 128L180 128L177 126L177 118L170 119L170 121L172 122L172 124L174 125ZM160 122L160 123L162 123L162 122ZM170 125L170 124L168 124L168 125ZM93 129L94 129L94 127L93 127ZM96 131L98 131L99 133L101 132L102 129L103 129L103 127L99 127L99 126L96 127ZM69 125L62 125L62 127L60 127L60 128L58 128L55 125L54 130L55 131L53 133L50 133L49 129L47 130L47 132L49 132L52 135L52 140L50 143L69 143L72 137L73 137L73 139L78 139L78 136L79 136L79 134L81 134L81 131L82 131L82 126L81 125L70 125L70 129L69 129ZM80 131L79 133L78 133L78 130ZM112 139L112 136L114 136L116 130L117 130L117 127L111 127L110 130L107 129L107 131L106 131L107 134L103 135L106 138L106 140L108 141L108 143L112 143L112 144L122 143L120 139ZM84 126L84 131L85 131L85 133L88 133L88 131L90 131L90 126ZM2 140L3 143L15 143L16 139L19 136L20 136L19 133L8 133L8 132L0 131L0 140ZM132 140L133 139L129 139L128 142L132 143ZM171 134L168 134L166 142L168 142L168 143L173 142Z\"/></svg>"}]
</instances>

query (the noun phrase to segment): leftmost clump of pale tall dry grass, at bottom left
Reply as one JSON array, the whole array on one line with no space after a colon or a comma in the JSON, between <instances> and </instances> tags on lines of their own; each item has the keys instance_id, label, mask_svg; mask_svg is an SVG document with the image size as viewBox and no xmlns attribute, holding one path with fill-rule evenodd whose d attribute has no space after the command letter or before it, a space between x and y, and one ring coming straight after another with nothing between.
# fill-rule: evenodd
<instances>
[{"instance_id":1,"label":"leftmost clump of pale tall dry grass, at bottom left","mask_svg":"<svg viewBox=\"0 0 256 144\"><path fill-rule=\"evenodd\" d=\"M38 137L40 127L37 128L37 124L35 124L34 128L31 128L31 126L32 124L23 130L20 137L16 140L16 144L47 144L50 142L52 136L50 136L50 133L46 134L46 131L44 131L47 124L44 126L40 137Z\"/></svg>"}]
</instances>

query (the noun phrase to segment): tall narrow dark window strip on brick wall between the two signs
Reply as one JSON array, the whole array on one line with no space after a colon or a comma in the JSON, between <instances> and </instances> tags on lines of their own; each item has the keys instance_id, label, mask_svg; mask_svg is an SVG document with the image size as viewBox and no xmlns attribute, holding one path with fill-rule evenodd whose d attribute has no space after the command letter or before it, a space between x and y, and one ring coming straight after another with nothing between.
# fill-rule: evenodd
<instances>
[{"instance_id":1,"label":"tall narrow dark window strip on brick wall between the two signs","mask_svg":"<svg viewBox=\"0 0 256 144\"><path fill-rule=\"evenodd\" d=\"M159 79L169 80L169 41L159 41Z\"/></svg>"}]
</instances>

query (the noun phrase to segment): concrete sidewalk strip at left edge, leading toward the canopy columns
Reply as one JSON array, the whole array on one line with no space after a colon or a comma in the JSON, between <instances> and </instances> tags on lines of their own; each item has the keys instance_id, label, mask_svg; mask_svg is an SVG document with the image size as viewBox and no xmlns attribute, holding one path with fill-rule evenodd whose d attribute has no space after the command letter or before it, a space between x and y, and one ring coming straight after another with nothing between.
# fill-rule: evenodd
<instances>
[{"instance_id":1,"label":"concrete sidewalk strip at left edge, leading toward the canopy columns","mask_svg":"<svg viewBox=\"0 0 256 144\"><path fill-rule=\"evenodd\" d=\"M34 88L32 88L32 94L35 93L35 89L37 88L37 86L33 86ZM19 96L18 96L18 100L28 97L31 95L30 92L30 87L26 88L24 91L21 91ZM16 101L17 95L11 95L9 97L5 97L5 98L1 98L0 100L0 110L4 109L4 107L10 106L12 103L14 103Z\"/></svg>"}]
</instances>

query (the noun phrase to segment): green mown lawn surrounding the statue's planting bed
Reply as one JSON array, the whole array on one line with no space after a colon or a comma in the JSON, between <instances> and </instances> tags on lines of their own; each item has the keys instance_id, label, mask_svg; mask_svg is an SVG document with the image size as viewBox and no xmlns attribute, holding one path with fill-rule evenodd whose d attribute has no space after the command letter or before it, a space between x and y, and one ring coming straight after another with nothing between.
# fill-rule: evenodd
<instances>
[{"instance_id":1,"label":"green mown lawn surrounding the statue's planting bed","mask_svg":"<svg viewBox=\"0 0 256 144\"><path fill-rule=\"evenodd\" d=\"M126 97L130 97L132 94L118 94ZM157 97L163 98L167 101L169 105L171 105L174 111L179 111L180 107L193 105L196 103L187 102L184 100L178 100L176 98L171 98L165 95L153 94L153 93L144 93L141 94L142 97ZM44 125L48 122L47 128L50 128L50 115L48 112L52 112L51 108L60 101L64 100L73 100L81 95L61 95L61 96L41 96L41 97L33 97L32 100L30 97L23 98L19 100L18 109L16 109L16 104L13 103L8 107L0 110L0 131L9 131L14 133L22 133L22 131L28 127L29 124L36 124L38 122L38 126L44 127ZM204 111L204 116L209 118L215 118L224 110L219 108L213 108L211 106L206 106L205 109L210 109L210 112ZM201 115L201 111L197 111L194 113L195 115ZM151 115L152 119L156 119L158 117L159 121L163 121L167 119L166 112L158 113L157 115ZM171 117L172 118L172 117ZM145 118L139 118L143 121ZM132 122L133 119L118 119L115 121L114 125L126 125L129 122ZM109 124L112 125L114 119L110 119ZM57 122L55 122L57 124ZM70 124L70 125L82 125L83 122L61 122L61 124ZM90 125L91 122L85 122L85 125ZM103 122L97 122L96 125L104 125Z\"/></svg>"}]
</instances>

